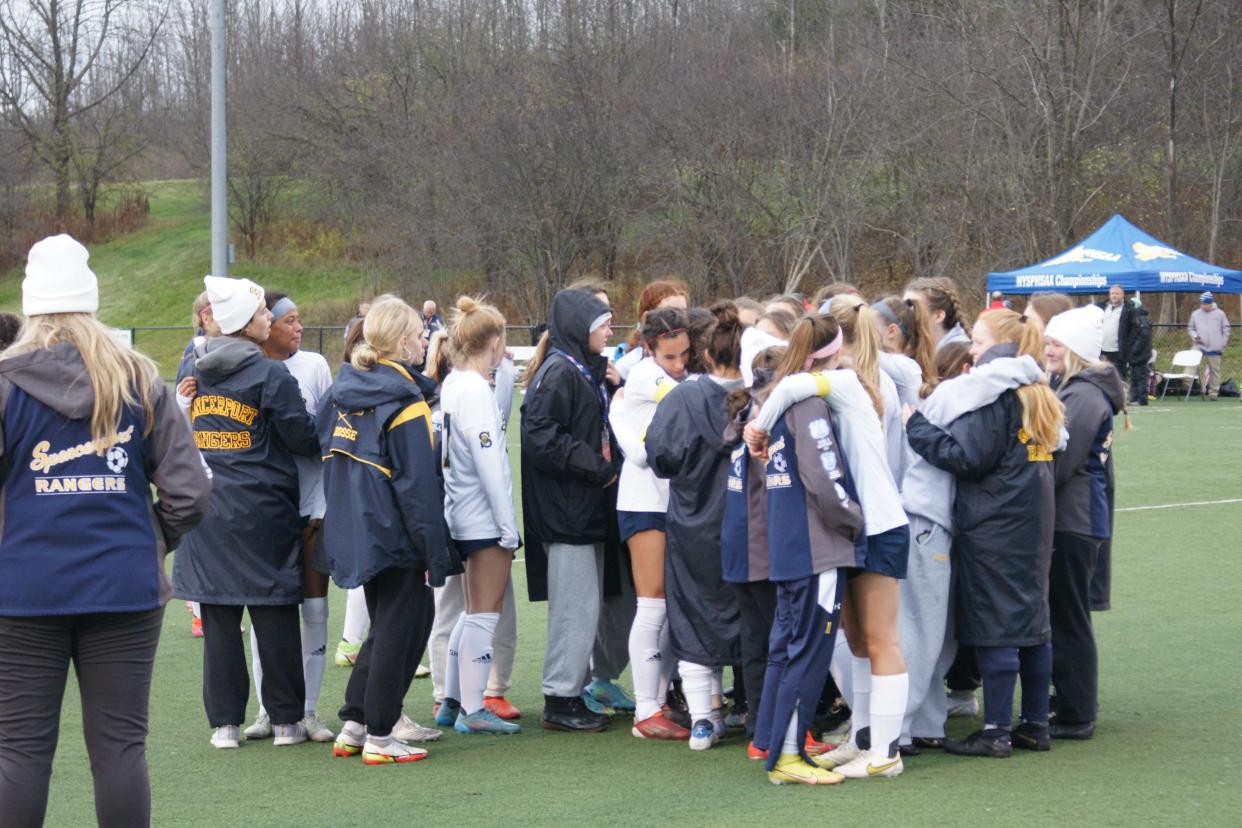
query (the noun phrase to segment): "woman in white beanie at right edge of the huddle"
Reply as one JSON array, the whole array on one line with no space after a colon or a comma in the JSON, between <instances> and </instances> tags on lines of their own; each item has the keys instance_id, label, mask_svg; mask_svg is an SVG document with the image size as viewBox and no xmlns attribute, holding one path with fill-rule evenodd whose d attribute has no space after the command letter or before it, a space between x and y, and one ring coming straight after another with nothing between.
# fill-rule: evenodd
<instances>
[{"instance_id":1,"label":"woman in white beanie at right edge of the huddle","mask_svg":"<svg viewBox=\"0 0 1242 828\"><path fill-rule=\"evenodd\" d=\"M1057 524L1048 608L1052 683L1057 688L1053 739L1090 739L1095 731L1099 663L1092 629L1092 587L1107 572L1113 534L1113 417L1122 411L1122 377L1100 362L1098 308L1053 317L1045 354L1066 406L1069 442L1057 452ZM1107 576L1105 576L1107 583Z\"/></svg>"}]
</instances>

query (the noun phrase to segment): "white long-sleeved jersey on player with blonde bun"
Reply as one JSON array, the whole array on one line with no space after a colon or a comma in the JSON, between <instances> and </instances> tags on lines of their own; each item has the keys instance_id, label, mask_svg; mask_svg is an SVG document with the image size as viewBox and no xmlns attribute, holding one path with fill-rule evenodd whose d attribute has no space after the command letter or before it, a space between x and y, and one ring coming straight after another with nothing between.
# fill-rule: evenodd
<instances>
[{"instance_id":1,"label":"white long-sleeved jersey on player with blonde bun","mask_svg":"<svg viewBox=\"0 0 1242 828\"><path fill-rule=\"evenodd\" d=\"M498 380L499 377L499 371ZM481 374L453 370L440 386L445 519L453 540L518 547L505 417Z\"/></svg>"}]
</instances>

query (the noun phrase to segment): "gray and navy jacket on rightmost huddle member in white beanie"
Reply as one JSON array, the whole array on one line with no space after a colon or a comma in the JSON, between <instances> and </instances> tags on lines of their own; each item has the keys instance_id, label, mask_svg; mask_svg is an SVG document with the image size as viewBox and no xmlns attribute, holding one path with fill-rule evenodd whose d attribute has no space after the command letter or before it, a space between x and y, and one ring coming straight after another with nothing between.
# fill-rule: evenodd
<instances>
[{"instance_id":1,"label":"gray and navy jacket on rightmost huddle member in white beanie","mask_svg":"<svg viewBox=\"0 0 1242 828\"><path fill-rule=\"evenodd\" d=\"M1057 531L1112 536L1113 416L1125 391L1117 369L1088 369L1058 384L1069 442L1057 452Z\"/></svg>"}]
</instances>

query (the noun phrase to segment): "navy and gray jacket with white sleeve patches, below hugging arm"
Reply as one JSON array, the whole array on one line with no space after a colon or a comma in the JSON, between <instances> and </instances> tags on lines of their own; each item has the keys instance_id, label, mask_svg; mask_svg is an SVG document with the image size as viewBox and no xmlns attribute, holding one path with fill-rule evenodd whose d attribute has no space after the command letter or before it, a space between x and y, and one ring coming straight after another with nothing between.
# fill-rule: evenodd
<instances>
[{"instance_id":1,"label":"navy and gray jacket with white sleeve patches, below hugging arm","mask_svg":"<svg viewBox=\"0 0 1242 828\"><path fill-rule=\"evenodd\" d=\"M776 422L764 485L769 580L797 581L862 564L866 546L854 544L863 531L862 510L822 398L791 406Z\"/></svg>"}]
</instances>

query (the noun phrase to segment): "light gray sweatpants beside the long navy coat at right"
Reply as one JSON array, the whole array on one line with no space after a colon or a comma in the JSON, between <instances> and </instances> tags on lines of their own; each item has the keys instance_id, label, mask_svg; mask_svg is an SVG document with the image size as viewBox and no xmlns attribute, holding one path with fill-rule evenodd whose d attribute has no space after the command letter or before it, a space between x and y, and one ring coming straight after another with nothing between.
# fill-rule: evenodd
<instances>
[{"instance_id":1,"label":"light gray sweatpants beside the long navy coat at right","mask_svg":"<svg viewBox=\"0 0 1242 828\"><path fill-rule=\"evenodd\" d=\"M944 674L958 652L950 623L953 536L925 518L910 515L910 557L902 581L897 614L902 658L910 677L910 693L902 720L900 744L912 736L943 739L949 715Z\"/></svg>"}]
</instances>

